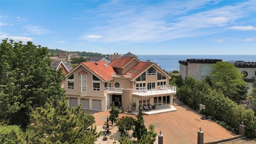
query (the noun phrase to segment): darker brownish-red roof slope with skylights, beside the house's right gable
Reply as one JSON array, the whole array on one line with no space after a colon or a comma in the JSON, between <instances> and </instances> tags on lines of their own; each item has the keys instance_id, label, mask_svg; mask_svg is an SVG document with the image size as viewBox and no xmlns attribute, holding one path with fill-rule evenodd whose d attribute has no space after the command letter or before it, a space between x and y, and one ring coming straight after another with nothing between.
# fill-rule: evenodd
<instances>
[{"instance_id":1,"label":"darker brownish-red roof slope with skylights, beside the house's right gable","mask_svg":"<svg viewBox=\"0 0 256 144\"><path fill-rule=\"evenodd\" d=\"M131 68L128 72L126 72L126 75L128 73L130 73L132 70L134 70L131 73L131 78L130 80L134 79L136 76L138 76L139 74L142 74L142 72L144 70L146 70L149 66L151 66L152 64L154 64L153 62L140 62L138 64L136 64L136 66L134 66L133 68ZM136 72L137 71L137 72Z\"/></svg>"}]
</instances>

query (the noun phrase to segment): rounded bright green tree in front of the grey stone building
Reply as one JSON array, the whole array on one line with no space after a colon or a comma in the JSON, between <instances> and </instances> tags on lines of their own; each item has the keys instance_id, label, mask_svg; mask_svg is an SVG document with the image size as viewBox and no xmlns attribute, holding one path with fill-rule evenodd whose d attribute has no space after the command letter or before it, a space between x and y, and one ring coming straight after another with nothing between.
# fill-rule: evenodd
<instances>
[{"instance_id":1,"label":"rounded bright green tree in front of the grey stone building","mask_svg":"<svg viewBox=\"0 0 256 144\"><path fill-rule=\"evenodd\" d=\"M227 62L217 62L213 67L213 88L240 104L240 100L246 98L248 86L242 79L242 74L238 72L238 68Z\"/></svg>"}]
</instances>

